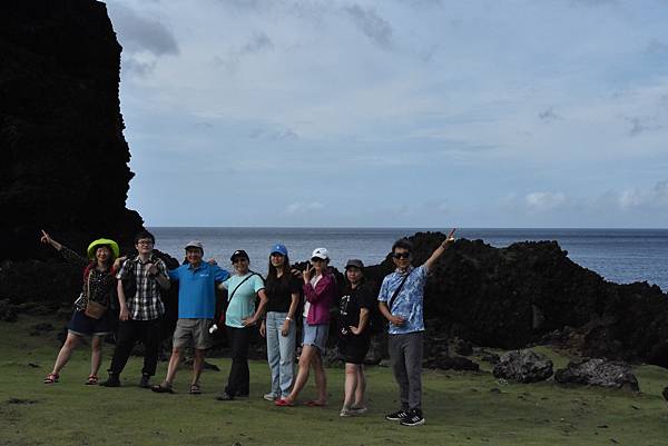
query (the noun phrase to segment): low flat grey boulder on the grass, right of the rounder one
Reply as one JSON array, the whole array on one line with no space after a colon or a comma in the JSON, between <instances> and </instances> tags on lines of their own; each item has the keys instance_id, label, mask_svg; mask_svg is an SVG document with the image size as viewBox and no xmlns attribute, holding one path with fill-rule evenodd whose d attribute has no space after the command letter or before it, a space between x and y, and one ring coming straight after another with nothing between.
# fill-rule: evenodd
<instances>
[{"instance_id":1,"label":"low flat grey boulder on the grass, right of the rounder one","mask_svg":"<svg viewBox=\"0 0 668 446\"><path fill-rule=\"evenodd\" d=\"M633 392L640 390L638 379L631 373L628 364L600 358L572 360L567 368L557 370L554 380L559 384L582 384L608 388L628 388Z\"/></svg>"}]
</instances>

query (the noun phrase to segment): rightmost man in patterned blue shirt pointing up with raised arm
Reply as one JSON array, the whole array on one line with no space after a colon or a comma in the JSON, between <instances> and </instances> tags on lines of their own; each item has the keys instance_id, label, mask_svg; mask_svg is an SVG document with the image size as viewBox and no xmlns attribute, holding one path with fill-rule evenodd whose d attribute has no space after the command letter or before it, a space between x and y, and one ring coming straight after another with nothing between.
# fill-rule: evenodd
<instances>
[{"instance_id":1,"label":"rightmost man in patterned blue shirt pointing up with raised arm","mask_svg":"<svg viewBox=\"0 0 668 446\"><path fill-rule=\"evenodd\" d=\"M454 241L454 229L434 250L424 265L411 265L413 244L400 239L392 246L396 270L383 279L379 308L390 321L389 348L394 379L399 384L401 409L385 419L403 426L424 424L422 416L422 338L424 333L424 286L431 267Z\"/></svg>"}]
</instances>

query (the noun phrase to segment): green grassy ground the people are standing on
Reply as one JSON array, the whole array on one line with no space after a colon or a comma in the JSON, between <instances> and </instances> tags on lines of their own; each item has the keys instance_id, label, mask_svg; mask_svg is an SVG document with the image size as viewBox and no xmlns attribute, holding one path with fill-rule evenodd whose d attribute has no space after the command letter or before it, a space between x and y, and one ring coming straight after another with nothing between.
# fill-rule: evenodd
<instances>
[{"instance_id":1,"label":"green grassy ground the people are standing on","mask_svg":"<svg viewBox=\"0 0 668 446\"><path fill-rule=\"evenodd\" d=\"M666 445L668 404L660 393L668 370L636 369L641 393L553 383L499 383L488 371L425 371L426 424L407 428L383 419L397 407L391 370L367 369L370 413L340 418L343 370L328 369L326 408L277 408L262 399L268 390L264 361L250 364L250 398L217 402L229 360L209 359L220 371L205 371L204 394L187 394L189 370L177 375L176 395L137 387L139 358L131 358L121 388L85 386L89 350L81 346L61 374L46 386L59 348L55 333L29 336L43 321L21 316L0 323L0 445ZM541 348L556 361L568 359ZM102 369L112 346L105 346ZM481 364L483 367L484 363ZM158 378L166 363L158 367ZM492 390L494 389L494 390ZM498 392L499 389L500 392ZM303 399L314 397L310 384Z\"/></svg>"}]
</instances>

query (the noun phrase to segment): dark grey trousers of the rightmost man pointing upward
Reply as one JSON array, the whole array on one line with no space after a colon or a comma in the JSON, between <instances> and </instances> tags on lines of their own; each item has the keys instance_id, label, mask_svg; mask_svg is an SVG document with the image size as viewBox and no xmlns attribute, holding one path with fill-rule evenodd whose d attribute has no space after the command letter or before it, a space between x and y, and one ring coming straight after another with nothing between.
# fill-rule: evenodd
<instances>
[{"instance_id":1,"label":"dark grey trousers of the rightmost man pointing upward","mask_svg":"<svg viewBox=\"0 0 668 446\"><path fill-rule=\"evenodd\" d=\"M422 331L390 335L390 360L401 408L422 409Z\"/></svg>"}]
</instances>

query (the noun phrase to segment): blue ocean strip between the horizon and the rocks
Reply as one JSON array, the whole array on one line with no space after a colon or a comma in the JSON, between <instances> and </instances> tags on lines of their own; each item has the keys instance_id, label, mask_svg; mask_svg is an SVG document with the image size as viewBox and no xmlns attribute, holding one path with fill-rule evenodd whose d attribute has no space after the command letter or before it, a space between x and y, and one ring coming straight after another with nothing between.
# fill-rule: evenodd
<instances>
[{"instance_id":1,"label":"blue ocean strip between the horizon and the rocks","mask_svg":"<svg viewBox=\"0 0 668 446\"><path fill-rule=\"evenodd\" d=\"M252 268L266 274L268 250L284 244L291 261L305 260L313 249L325 247L332 266L342 268L350 258L380 264L394 240L418 231L448 228L177 228L153 227L156 247L177 259L189 240L204 244L205 258L229 265L235 249L244 249ZM458 237L482 239L495 247L515 241L557 240L574 262L619 284L648 281L668 291L668 229L458 229Z\"/></svg>"}]
</instances>

